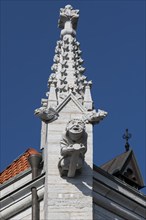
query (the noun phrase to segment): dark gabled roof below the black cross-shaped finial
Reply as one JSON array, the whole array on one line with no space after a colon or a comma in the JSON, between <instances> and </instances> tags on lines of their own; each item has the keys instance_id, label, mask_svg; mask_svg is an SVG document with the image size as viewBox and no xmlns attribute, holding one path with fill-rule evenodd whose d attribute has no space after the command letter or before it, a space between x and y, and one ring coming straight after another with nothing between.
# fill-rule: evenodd
<instances>
[{"instance_id":1,"label":"dark gabled roof below the black cross-shaped finial","mask_svg":"<svg viewBox=\"0 0 146 220\"><path fill-rule=\"evenodd\" d=\"M132 150L120 154L100 166L100 168L109 174L124 180L131 186L138 189L144 187L143 178Z\"/></svg>"}]
</instances>

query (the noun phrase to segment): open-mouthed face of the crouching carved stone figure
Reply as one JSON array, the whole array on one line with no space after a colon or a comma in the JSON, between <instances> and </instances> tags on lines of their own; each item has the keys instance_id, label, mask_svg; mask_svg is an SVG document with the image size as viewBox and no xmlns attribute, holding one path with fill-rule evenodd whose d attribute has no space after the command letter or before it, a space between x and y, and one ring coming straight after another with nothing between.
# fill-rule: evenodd
<instances>
[{"instance_id":1,"label":"open-mouthed face of the crouching carved stone figure","mask_svg":"<svg viewBox=\"0 0 146 220\"><path fill-rule=\"evenodd\" d=\"M73 119L68 122L66 130L72 140L77 140L85 131L85 124L80 119Z\"/></svg>"}]
</instances>

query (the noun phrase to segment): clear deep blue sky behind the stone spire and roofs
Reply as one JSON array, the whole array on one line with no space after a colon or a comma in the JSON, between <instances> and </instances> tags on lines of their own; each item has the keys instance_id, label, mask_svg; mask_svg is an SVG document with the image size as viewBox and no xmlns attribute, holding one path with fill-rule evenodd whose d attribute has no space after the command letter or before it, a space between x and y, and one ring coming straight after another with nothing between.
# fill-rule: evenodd
<instances>
[{"instance_id":1,"label":"clear deep blue sky behind the stone spire and roofs","mask_svg":"<svg viewBox=\"0 0 146 220\"><path fill-rule=\"evenodd\" d=\"M59 9L80 10L77 40L96 108L108 112L94 128L94 163L130 145L143 177L145 143L145 1L1 1L1 170L27 148L39 150L33 115L47 92L59 40ZM145 180L146 182L146 180Z\"/></svg>"}]
</instances>

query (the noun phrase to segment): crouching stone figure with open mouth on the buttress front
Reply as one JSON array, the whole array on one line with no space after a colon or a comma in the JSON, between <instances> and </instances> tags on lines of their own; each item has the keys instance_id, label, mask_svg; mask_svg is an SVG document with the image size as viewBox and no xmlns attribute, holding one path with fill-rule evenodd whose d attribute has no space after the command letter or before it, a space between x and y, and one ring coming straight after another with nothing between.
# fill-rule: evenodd
<instances>
[{"instance_id":1,"label":"crouching stone figure with open mouth on the buttress front","mask_svg":"<svg viewBox=\"0 0 146 220\"><path fill-rule=\"evenodd\" d=\"M60 147L61 158L58 163L60 175L74 177L77 171L81 173L87 151L87 133L82 120L72 119L67 123Z\"/></svg>"}]
</instances>

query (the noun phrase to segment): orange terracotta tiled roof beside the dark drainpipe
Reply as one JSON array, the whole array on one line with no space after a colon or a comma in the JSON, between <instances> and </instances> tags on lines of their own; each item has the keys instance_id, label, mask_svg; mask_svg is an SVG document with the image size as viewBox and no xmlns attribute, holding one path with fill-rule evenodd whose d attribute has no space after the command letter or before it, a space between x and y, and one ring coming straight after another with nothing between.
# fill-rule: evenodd
<instances>
[{"instance_id":1,"label":"orange terracotta tiled roof beside the dark drainpipe","mask_svg":"<svg viewBox=\"0 0 146 220\"><path fill-rule=\"evenodd\" d=\"M0 184L27 170L30 167L28 157L32 154L40 154L33 148L27 149L20 157L14 160L4 171L0 173Z\"/></svg>"}]
</instances>

